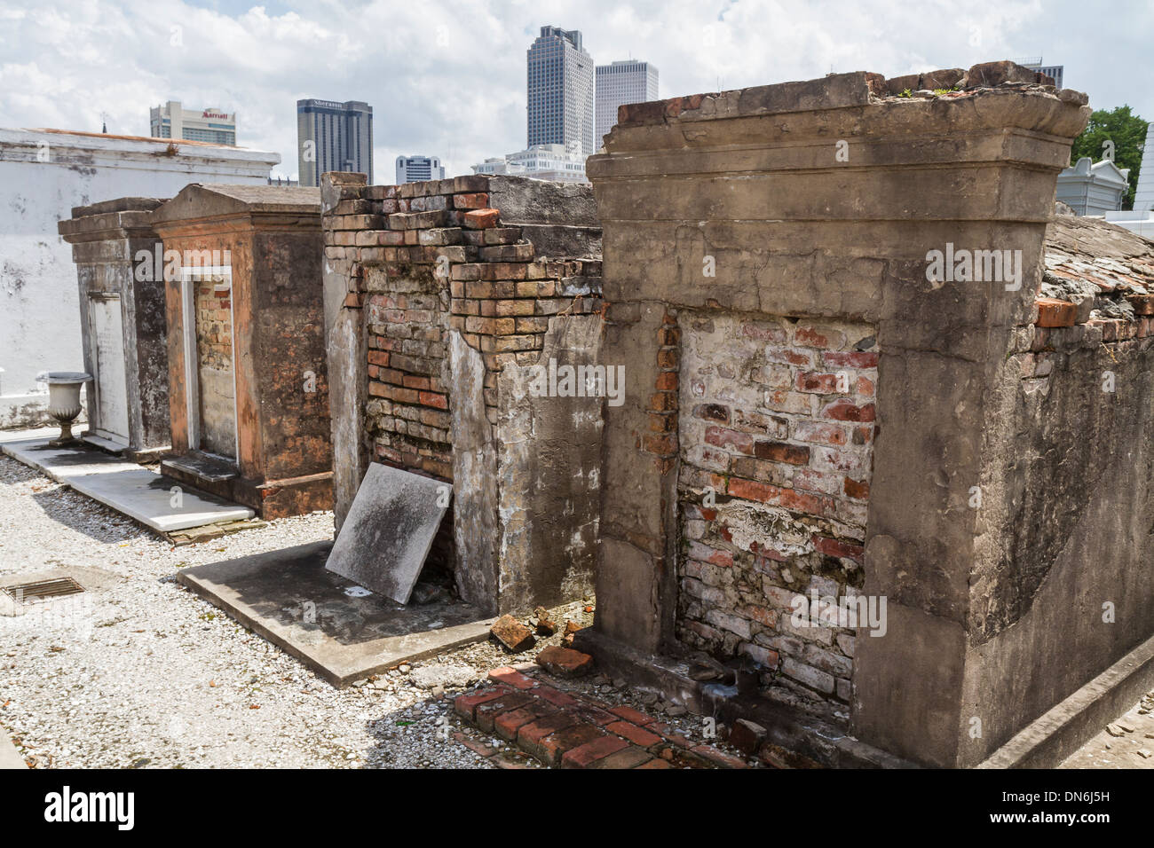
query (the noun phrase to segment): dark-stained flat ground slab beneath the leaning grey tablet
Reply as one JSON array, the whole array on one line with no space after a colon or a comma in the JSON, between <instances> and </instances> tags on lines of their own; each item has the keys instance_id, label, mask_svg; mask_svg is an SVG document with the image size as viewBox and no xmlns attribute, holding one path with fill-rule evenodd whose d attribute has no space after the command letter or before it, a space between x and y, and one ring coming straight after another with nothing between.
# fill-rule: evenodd
<instances>
[{"instance_id":1,"label":"dark-stained flat ground slab beneath the leaning grey tablet","mask_svg":"<svg viewBox=\"0 0 1154 848\"><path fill-rule=\"evenodd\" d=\"M197 565L177 579L335 686L488 637L467 603L404 606L325 568L332 542Z\"/></svg>"}]
</instances>

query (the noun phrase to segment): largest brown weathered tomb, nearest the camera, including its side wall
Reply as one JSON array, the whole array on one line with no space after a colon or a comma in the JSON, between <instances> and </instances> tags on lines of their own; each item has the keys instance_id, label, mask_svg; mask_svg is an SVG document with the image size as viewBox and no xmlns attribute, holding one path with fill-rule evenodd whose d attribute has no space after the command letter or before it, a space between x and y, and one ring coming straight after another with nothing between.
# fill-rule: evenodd
<instances>
[{"instance_id":1,"label":"largest brown weathered tomb, nearest the camera, including its side wall","mask_svg":"<svg viewBox=\"0 0 1154 848\"><path fill-rule=\"evenodd\" d=\"M1035 302L1085 104L1002 62L621 108L602 666L841 765L1054 761L1148 686L1149 322Z\"/></svg>"}]
</instances>

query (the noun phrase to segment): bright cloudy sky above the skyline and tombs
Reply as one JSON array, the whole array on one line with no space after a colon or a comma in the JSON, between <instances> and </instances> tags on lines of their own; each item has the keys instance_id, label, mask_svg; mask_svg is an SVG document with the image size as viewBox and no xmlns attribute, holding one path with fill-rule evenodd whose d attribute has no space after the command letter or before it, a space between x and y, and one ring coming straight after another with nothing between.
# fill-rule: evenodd
<instances>
[{"instance_id":1,"label":"bright cloudy sky above the skyline and tombs","mask_svg":"<svg viewBox=\"0 0 1154 848\"><path fill-rule=\"evenodd\" d=\"M167 99L238 112L238 142L297 173L295 103L367 100L376 181L398 155L447 173L525 147L525 50L579 29L599 62L660 69L660 96L898 76L1042 55L1095 108L1154 119L1154 0L0 0L0 127L148 135ZM181 46L170 46L173 28Z\"/></svg>"}]
</instances>

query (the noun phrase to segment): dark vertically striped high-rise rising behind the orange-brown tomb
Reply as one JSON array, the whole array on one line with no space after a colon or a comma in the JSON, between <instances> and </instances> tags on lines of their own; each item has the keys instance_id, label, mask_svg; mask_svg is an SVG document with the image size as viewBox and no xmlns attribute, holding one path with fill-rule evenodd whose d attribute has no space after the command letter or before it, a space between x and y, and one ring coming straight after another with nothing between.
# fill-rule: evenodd
<instances>
[{"instance_id":1,"label":"dark vertically striped high-rise rising behind the orange-brown tomb","mask_svg":"<svg viewBox=\"0 0 1154 848\"><path fill-rule=\"evenodd\" d=\"M300 185L320 186L325 171L368 174L373 185L373 107L361 100L297 100Z\"/></svg>"}]
</instances>

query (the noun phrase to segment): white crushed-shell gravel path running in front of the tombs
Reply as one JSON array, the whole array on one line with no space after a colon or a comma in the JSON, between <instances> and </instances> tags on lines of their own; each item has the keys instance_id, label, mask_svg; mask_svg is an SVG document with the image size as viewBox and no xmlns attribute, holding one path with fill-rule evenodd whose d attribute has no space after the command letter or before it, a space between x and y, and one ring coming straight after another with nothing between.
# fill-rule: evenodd
<instances>
[{"instance_id":1,"label":"white crushed-shell gravel path running in front of the tombs","mask_svg":"<svg viewBox=\"0 0 1154 848\"><path fill-rule=\"evenodd\" d=\"M87 590L0 615L0 730L42 768L493 768L452 738L494 742L456 718L451 697L493 668L532 660L560 633L517 656L478 643L338 691L175 581L185 566L331 535L332 513L315 512L173 548L0 456L0 576L66 570ZM567 617L592 621L580 603L554 610L559 623ZM622 681L559 685L662 711ZM666 718L703 738L700 718ZM538 767L508 752L496 765Z\"/></svg>"}]
</instances>

